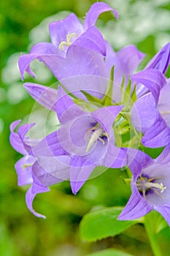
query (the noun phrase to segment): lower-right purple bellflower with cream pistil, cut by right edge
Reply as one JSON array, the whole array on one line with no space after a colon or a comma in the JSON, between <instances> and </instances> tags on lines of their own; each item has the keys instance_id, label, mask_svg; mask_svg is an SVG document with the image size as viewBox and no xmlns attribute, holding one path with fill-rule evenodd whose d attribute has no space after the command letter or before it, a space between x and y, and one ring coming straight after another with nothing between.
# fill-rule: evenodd
<instances>
[{"instance_id":1,"label":"lower-right purple bellflower with cream pistil, cut by right edge","mask_svg":"<svg viewBox=\"0 0 170 256\"><path fill-rule=\"evenodd\" d=\"M138 219L155 210L170 226L170 165L138 151L129 168L132 195L118 219Z\"/></svg>"}]
</instances>

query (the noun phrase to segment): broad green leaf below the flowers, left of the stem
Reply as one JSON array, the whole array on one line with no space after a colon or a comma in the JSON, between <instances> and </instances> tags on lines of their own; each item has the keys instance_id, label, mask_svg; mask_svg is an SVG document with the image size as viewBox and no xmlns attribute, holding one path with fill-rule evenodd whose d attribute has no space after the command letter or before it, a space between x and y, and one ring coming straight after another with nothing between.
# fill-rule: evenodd
<instances>
[{"instance_id":1,"label":"broad green leaf below the flowers, left of the stem","mask_svg":"<svg viewBox=\"0 0 170 256\"><path fill-rule=\"evenodd\" d=\"M85 241L96 241L122 233L134 221L117 220L123 207L104 208L85 215L80 222L80 236Z\"/></svg>"}]
</instances>

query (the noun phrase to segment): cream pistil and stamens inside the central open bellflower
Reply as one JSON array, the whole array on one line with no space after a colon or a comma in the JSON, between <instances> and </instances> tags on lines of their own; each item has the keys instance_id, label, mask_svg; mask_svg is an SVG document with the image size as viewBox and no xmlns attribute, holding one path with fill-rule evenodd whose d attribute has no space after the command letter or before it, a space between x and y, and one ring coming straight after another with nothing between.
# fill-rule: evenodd
<instances>
[{"instance_id":1,"label":"cream pistil and stamens inside the central open bellflower","mask_svg":"<svg viewBox=\"0 0 170 256\"><path fill-rule=\"evenodd\" d=\"M109 140L109 135L107 134L107 132L105 132L103 128L99 127L98 124L95 127L88 129L88 131L86 132L86 136L88 136L88 132L90 131L92 131L93 133L90 135L90 138L88 138L89 141L86 148L86 153L88 153L91 146L93 146L93 143L95 143L96 140L101 140L103 145L105 144L104 137Z\"/></svg>"}]
</instances>

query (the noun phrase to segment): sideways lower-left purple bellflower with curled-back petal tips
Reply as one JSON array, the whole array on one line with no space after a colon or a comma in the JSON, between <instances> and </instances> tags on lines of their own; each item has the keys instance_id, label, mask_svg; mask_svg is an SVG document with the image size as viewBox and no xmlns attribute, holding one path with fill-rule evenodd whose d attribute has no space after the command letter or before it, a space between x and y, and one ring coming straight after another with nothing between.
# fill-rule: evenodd
<instances>
[{"instance_id":1,"label":"sideways lower-left purple bellflower with curled-back petal tips","mask_svg":"<svg viewBox=\"0 0 170 256\"><path fill-rule=\"evenodd\" d=\"M26 193L26 205L36 217L45 218L42 214L34 211L32 207L34 197L39 193L50 191L48 186L69 179L70 159L65 156L50 157L47 151L47 154L44 154L43 157L31 155L31 151L34 146L39 144L39 140L31 140L26 134L34 124L23 124L18 128L18 133L15 133L14 129L19 124L20 121L15 121L10 127L10 143L16 151L24 156L15 164L18 174L18 186L31 184ZM48 171L49 168L50 171ZM57 176L60 178L56 178Z\"/></svg>"}]
</instances>

